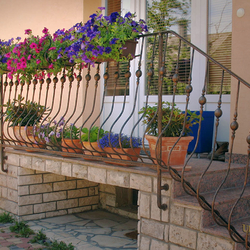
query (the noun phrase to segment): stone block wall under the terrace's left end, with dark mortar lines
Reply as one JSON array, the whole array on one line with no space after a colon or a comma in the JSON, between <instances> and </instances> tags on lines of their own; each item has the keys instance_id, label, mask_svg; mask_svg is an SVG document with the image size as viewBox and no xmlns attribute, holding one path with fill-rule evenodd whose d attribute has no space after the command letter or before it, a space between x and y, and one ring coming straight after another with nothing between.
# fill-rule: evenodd
<instances>
[{"instance_id":1,"label":"stone block wall under the terrace's left end, with dark mortar lines","mask_svg":"<svg viewBox=\"0 0 250 250\"><path fill-rule=\"evenodd\" d=\"M98 183L8 164L0 173L0 207L23 220L99 207Z\"/></svg>"}]
</instances>

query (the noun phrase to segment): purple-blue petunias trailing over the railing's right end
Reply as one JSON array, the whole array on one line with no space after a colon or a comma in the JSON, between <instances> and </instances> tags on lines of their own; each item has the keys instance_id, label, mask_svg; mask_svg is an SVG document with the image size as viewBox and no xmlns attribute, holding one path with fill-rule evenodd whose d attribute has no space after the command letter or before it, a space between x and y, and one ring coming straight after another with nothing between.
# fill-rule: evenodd
<instances>
[{"instance_id":1,"label":"purple-blue petunias trailing over the railing's right end","mask_svg":"<svg viewBox=\"0 0 250 250\"><path fill-rule=\"evenodd\" d=\"M122 17L113 12L110 16L103 16L101 11L105 8L99 9L84 25L78 23L74 26L78 39L66 49L71 61L94 63L98 58L122 61L125 41L135 40L147 31L144 20L134 20L135 14L128 12Z\"/></svg>"}]
</instances>

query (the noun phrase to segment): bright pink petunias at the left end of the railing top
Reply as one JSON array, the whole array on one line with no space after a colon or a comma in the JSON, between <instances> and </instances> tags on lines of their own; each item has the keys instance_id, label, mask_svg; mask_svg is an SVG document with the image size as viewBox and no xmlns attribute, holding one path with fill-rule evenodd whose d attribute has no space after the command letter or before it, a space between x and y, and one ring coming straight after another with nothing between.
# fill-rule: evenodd
<instances>
[{"instance_id":1,"label":"bright pink petunias at the left end of the railing top","mask_svg":"<svg viewBox=\"0 0 250 250\"><path fill-rule=\"evenodd\" d=\"M47 28L43 36L34 36L32 30L25 30L28 36L23 41L18 37L7 42L0 41L0 66L8 70L10 79L31 80L33 77L44 78L45 73L57 74L68 66L69 58L63 53L73 43L71 30L57 30L53 36Z\"/></svg>"}]
</instances>

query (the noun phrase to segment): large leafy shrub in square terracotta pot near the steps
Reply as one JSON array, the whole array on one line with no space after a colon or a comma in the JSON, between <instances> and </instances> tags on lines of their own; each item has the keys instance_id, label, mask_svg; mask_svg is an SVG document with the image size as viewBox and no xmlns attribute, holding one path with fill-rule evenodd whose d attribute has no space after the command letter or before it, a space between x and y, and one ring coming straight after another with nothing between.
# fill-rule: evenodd
<instances>
[{"instance_id":1,"label":"large leafy shrub in square terracotta pot near the steps","mask_svg":"<svg viewBox=\"0 0 250 250\"><path fill-rule=\"evenodd\" d=\"M147 107L143 107L139 112L139 114L143 115L143 123L147 126L147 134L145 138L149 142L149 150L153 159L157 158L156 144L159 136L157 112L157 104L155 106L148 105ZM187 113L188 115L185 118L185 113L177 108L176 105L172 107L169 102L162 103L161 160L165 163L165 165L169 163L171 166L177 166L183 165L185 162L188 144L194 138L193 136L189 136L191 133L191 127L199 121L199 115L192 113L189 110ZM183 129L185 120L186 126ZM170 155L170 162L168 162L169 152L171 149L172 152ZM156 160L154 160L154 162L157 163Z\"/></svg>"}]
</instances>

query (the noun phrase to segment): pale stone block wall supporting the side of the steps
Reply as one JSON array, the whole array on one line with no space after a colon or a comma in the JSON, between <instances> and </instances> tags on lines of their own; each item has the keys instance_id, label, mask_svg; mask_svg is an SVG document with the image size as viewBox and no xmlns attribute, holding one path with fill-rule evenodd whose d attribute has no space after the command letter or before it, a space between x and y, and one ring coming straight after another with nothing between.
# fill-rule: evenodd
<instances>
[{"instance_id":1,"label":"pale stone block wall supporting the side of the steps","mask_svg":"<svg viewBox=\"0 0 250 250\"><path fill-rule=\"evenodd\" d=\"M166 211L157 207L156 189L139 192L139 250L233 250L235 243L223 237L202 232L202 209L188 206L163 191Z\"/></svg>"}]
</instances>

